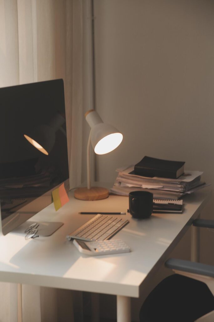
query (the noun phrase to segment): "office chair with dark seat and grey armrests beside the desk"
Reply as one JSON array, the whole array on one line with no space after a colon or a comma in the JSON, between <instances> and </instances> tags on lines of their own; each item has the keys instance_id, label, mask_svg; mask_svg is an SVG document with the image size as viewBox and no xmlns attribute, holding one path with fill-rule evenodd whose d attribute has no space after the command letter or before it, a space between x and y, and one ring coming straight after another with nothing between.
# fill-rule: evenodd
<instances>
[{"instance_id":1,"label":"office chair with dark seat and grey armrests beside the desk","mask_svg":"<svg viewBox=\"0 0 214 322\"><path fill-rule=\"evenodd\" d=\"M214 221L195 225L214 228ZM144 301L140 322L214 322L214 266L169 259L176 274L162 280Z\"/></svg>"}]
</instances>

